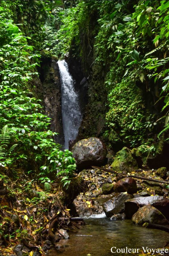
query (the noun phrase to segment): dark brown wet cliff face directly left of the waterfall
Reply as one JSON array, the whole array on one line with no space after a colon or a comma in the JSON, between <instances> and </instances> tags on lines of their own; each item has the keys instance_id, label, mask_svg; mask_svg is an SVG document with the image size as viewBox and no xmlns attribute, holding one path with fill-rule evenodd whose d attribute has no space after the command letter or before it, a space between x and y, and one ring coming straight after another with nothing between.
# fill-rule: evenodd
<instances>
[{"instance_id":1,"label":"dark brown wet cliff face directly left of the waterfall","mask_svg":"<svg viewBox=\"0 0 169 256\"><path fill-rule=\"evenodd\" d=\"M42 100L45 113L51 118L51 130L58 133L55 136L56 143L64 145L61 85L57 59L42 52L41 61L41 67L38 68L40 81L33 80L33 85L36 86L35 96Z\"/></svg>"}]
</instances>

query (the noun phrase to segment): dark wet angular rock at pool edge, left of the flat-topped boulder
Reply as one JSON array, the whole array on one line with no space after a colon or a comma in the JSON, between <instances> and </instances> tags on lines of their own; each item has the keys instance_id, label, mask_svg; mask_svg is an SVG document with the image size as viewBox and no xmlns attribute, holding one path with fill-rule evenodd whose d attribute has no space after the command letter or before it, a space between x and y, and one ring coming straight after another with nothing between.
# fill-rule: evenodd
<instances>
[{"instance_id":1,"label":"dark wet angular rock at pool edge, left of the flat-topped boulder","mask_svg":"<svg viewBox=\"0 0 169 256\"><path fill-rule=\"evenodd\" d=\"M126 193L116 193L111 199L103 203L103 210L107 217L113 214L122 213L125 209L125 201L131 199L132 195Z\"/></svg>"}]
</instances>

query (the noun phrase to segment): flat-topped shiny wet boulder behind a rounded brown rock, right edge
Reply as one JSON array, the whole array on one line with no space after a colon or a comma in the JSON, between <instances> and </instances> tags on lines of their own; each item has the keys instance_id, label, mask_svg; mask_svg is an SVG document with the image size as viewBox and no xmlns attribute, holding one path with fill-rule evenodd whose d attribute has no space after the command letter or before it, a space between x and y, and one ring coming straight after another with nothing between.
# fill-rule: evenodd
<instances>
[{"instance_id":1,"label":"flat-topped shiny wet boulder behind a rounded brown rock, right edge","mask_svg":"<svg viewBox=\"0 0 169 256\"><path fill-rule=\"evenodd\" d=\"M133 214L138 211L140 207L151 204L157 208L168 219L169 199L164 199L162 196L137 197L129 199L125 202L125 214L127 218L131 219Z\"/></svg>"}]
</instances>

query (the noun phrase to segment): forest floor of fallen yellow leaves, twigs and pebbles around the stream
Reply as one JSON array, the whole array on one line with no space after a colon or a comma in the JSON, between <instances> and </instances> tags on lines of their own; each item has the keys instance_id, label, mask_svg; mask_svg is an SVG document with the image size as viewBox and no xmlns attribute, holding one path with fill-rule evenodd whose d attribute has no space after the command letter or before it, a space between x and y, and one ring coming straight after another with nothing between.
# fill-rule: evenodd
<instances>
[{"instance_id":1,"label":"forest floor of fallen yellow leaves, twigs and pebbles around the stream","mask_svg":"<svg viewBox=\"0 0 169 256\"><path fill-rule=\"evenodd\" d=\"M105 167L110 168L109 165ZM131 174L163 180L156 176L154 170L137 170ZM101 187L107 182L115 184L115 174L90 168L76 176L81 176L88 188L86 193L80 193L75 198L74 212L61 203L63 191L58 190L57 183L52 185L50 192L45 192L36 181L28 180L24 174L15 182L8 176L1 177L0 255L43 255L50 248L55 248L57 241L67 238L69 231L83 224L81 219L72 221L70 215L86 216L103 212L102 199L106 200L113 193L103 195ZM136 194L145 191L148 195L168 197L166 184L139 179L136 182Z\"/></svg>"}]
</instances>

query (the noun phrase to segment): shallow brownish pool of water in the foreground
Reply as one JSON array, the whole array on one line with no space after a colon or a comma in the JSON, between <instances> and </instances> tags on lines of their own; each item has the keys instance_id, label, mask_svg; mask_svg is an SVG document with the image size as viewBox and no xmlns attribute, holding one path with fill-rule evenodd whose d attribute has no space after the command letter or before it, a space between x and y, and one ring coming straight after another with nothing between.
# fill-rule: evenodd
<instances>
[{"instance_id":1,"label":"shallow brownish pool of water in the foreground","mask_svg":"<svg viewBox=\"0 0 169 256\"><path fill-rule=\"evenodd\" d=\"M137 226L131 220L110 221L109 218L105 217L105 214L84 220L86 225L80 226L81 229L76 233L69 232L70 239L60 240L58 244L62 248L50 251L48 256L58 254L62 256L139 255L143 251L141 247L161 248L169 241L166 232ZM134 254L112 253L112 247L116 247L116 249L139 248L139 250L138 253Z\"/></svg>"}]
</instances>

